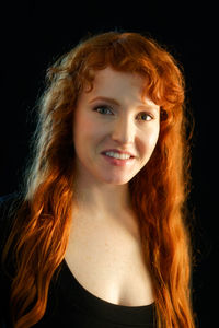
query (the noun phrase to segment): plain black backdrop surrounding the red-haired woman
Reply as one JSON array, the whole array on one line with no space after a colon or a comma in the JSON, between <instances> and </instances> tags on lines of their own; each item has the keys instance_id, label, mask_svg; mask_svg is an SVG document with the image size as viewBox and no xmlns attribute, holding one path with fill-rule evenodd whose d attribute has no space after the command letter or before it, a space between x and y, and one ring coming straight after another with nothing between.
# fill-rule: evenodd
<instances>
[{"instance_id":1,"label":"plain black backdrop surrounding the red-haired woman","mask_svg":"<svg viewBox=\"0 0 219 328\"><path fill-rule=\"evenodd\" d=\"M48 66L89 33L147 32L184 67L195 117L194 307L198 327L218 327L218 48L217 8L210 1L14 1L1 4L0 195L19 188L34 129L31 113Z\"/></svg>"}]
</instances>

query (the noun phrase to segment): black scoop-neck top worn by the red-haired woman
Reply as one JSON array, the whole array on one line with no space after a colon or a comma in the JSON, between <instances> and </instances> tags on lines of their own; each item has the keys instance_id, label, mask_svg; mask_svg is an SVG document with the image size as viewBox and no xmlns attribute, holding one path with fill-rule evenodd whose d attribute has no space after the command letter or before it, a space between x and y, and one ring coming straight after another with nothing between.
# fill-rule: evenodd
<instances>
[{"instance_id":1,"label":"black scoop-neck top worn by the red-haired woman","mask_svg":"<svg viewBox=\"0 0 219 328\"><path fill-rule=\"evenodd\" d=\"M0 198L1 251L9 234L9 214L5 207L10 197ZM3 234L3 235L2 235ZM0 327L11 328L9 291L10 279L0 273ZM51 279L46 312L33 327L71 328L152 328L155 327L154 303L145 306L123 306L106 302L85 290L70 271L66 260L59 267L58 274Z\"/></svg>"}]
</instances>

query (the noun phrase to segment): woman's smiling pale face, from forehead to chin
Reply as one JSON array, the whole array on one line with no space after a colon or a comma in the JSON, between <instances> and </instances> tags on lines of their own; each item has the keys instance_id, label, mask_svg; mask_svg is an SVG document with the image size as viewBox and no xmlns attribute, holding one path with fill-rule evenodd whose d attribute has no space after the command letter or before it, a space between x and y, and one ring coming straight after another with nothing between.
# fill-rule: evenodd
<instances>
[{"instance_id":1,"label":"woman's smiling pale face, from forehead to chin","mask_svg":"<svg viewBox=\"0 0 219 328\"><path fill-rule=\"evenodd\" d=\"M77 176L101 184L127 184L149 161L160 131L160 108L143 96L140 75L97 71L84 89L73 120ZM128 160L116 151L130 153ZM107 152L107 154L106 154Z\"/></svg>"}]
</instances>

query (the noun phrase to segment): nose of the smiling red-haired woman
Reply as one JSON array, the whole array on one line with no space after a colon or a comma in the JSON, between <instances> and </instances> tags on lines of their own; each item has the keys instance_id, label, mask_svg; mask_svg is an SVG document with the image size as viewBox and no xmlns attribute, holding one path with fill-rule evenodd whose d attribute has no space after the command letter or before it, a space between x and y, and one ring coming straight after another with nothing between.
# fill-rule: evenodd
<instances>
[{"instance_id":1,"label":"nose of the smiling red-haired woman","mask_svg":"<svg viewBox=\"0 0 219 328\"><path fill-rule=\"evenodd\" d=\"M112 139L122 144L134 143L135 127L131 120L127 117L118 119L113 127Z\"/></svg>"}]
</instances>

